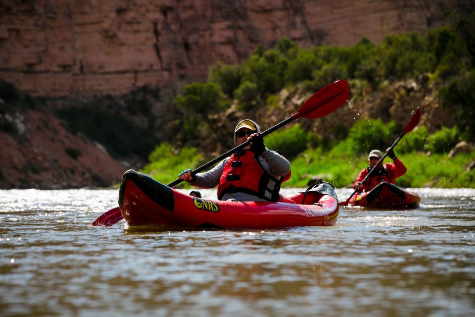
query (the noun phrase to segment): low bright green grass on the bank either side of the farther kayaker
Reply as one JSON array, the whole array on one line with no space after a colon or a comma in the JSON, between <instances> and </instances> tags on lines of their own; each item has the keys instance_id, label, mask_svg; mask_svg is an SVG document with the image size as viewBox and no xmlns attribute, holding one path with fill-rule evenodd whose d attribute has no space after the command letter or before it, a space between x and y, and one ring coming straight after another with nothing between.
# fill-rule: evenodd
<instances>
[{"instance_id":1,"label":"low bright green grass on the bank either side of the farther kayaker","mask_svg":"<svg viewBox=\"0 0 475 317\"><path fill-rule=\"evenodd\" d=\"M423 152L399 154L398 146L395 152L408 168L405 175L396 179L399 186L475 188L475 169L469 168L475 160L475 151L454 158L448 158L447 154L427 156ZM338 188L352 186L360 170L368 166L367 158L367 154L357 156L356 160L350 156L335 158L319 150L307 150L292 160L292 177L284 185L306 187L314 177L330 181ZM391 160L386 158L384 162Z\"/></svg>"}]
</instances>

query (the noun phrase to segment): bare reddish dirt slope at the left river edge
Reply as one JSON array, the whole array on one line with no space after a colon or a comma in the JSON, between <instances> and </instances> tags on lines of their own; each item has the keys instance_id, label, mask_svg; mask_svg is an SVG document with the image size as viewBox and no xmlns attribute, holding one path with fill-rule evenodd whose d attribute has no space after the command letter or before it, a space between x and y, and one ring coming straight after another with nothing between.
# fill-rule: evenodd
<instances>
[{"instance_id":1,"label":"bare reddish dirt slope at the left river edge","mask_svg":"<svg viewBox=\"0 0 475 317\"><path fill-rule=\"evenodd\" d=\"M105 149L72 135L51 114L16 114L16 136L0 132L0 188L61 189L118 183L127 167Z\"/></svg>"}]
</instances>

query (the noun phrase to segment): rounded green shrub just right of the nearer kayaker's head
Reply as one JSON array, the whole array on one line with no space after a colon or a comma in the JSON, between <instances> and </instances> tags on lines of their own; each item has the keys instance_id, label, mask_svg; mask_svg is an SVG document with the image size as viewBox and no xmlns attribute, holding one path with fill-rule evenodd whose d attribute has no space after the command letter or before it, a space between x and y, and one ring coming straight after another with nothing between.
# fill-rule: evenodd
<instances>
[{"instance_id":1,"label":"rounded green shrub just right of the nearer kayaker's head","mask_svg":"<svg viewBox=\"0 0 475 317\"><path fill-rule=\"evenodd\" d=\"M267 148L279 150L285 157L290 158L307 148L307 134L297 123L266 136L264 142Z\"/></svg>"}]
</instances>

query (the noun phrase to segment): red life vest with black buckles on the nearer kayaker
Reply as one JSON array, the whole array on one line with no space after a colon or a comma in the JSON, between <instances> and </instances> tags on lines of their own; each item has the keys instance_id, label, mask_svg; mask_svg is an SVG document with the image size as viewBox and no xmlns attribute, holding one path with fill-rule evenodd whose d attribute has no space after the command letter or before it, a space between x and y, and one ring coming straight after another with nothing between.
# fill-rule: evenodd
<instances>
[{"instance_id":1,"label":"red life vest with black buckles on the nearer kayaker","mask_svg":"<svg viewBox=\"0 0 475 317\"><path fill-rule=\"evenodd\" d=\"M279 199L282 182L289 178L290 172L279 179L272 177L254 153L239 151L224 165L219 179L218 199L221 200L225 194L246 193L275 202Z\"/></svg>"}]
</instances>

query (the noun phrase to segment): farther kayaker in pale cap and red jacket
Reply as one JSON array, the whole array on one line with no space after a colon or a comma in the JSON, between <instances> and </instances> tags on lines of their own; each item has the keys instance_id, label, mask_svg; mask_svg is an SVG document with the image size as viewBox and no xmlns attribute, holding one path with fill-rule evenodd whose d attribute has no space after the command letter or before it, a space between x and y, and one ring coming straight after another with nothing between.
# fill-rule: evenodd
<instances>
[{"instance_id":1,"label":"farther kayaker in pale cap and red jacket","mask_svg":"<svg viewBox=\"0 0 475 317\"><path fill-rule=\"evenodd\" d=\"M402 161L396 157L394 151L391 148L388 148L386 152L387 156L393 160L393 163L383 164L381 162L363 184L361 181L365 179L370 170L378 163L379 159L382 158L380 150L372 150L368 155L369 166L360 171L360 174L356 178L356 182L353 184L353 189L358 188L358 192L360 193L363 191L368 192L382 182L394 184L397 177L401 177L406 173L406 166L404 166Z\"/></svg>"}]
</instances>

